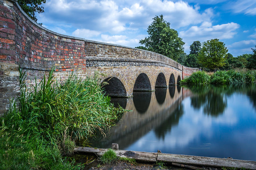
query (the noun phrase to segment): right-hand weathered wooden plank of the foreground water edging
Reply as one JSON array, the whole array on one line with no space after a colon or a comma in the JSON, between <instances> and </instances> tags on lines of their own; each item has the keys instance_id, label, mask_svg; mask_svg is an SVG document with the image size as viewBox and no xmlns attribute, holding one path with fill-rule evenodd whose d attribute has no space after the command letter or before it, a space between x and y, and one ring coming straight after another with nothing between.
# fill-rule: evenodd
<instances>
[{"instance_id":1,"label":"right-hand weathered wooden plank of the foreground water edging","mask_svg":"<svg viewBox=\"0 0 256 170\"><path fill-rule=\"evenodd\" d=\"M216 167L244 167L249 169L256 169L255 161L234 160L225 158L210 158L202 156L188 156L177 154L158 153L158 161L185 163L194 165L216 166Z\"/></svg>"}]
</instances>

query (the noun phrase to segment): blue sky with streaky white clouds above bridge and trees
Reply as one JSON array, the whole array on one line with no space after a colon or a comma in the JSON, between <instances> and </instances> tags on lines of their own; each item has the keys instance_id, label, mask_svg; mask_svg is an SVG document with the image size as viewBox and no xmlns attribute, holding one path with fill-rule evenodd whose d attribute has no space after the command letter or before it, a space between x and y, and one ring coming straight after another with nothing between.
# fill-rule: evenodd
<instances>
[{"instance_id":1,"label":"blue sky with streaky white clouds above bridge and trees","mask_svg":"<svg viewBox=\"0 0 256 170\"><path fill-rule=\"evenodd\" d=\"M220 39L234 57L256 45L256 0L47 0L38 22L57 33L139 46L152 18L163 14L185 42Z\"/></svg>"}]
</instances>

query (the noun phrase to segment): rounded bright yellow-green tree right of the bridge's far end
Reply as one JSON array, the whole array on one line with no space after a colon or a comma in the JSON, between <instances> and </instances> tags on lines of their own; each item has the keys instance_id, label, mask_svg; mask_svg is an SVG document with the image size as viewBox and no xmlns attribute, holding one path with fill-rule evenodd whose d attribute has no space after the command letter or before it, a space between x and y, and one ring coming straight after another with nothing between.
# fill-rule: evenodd
<instances>
[{"instance_id":1,"label":"rounded bright yellow-green tree right of the bridge's far end","mask_svg":"<svg viewBox=\"0 0 256 170\"><path fill-rule=\"evenodd\" d=\"M198 55L199 64L209 69L224 66L228 49L218 39L211 39L203 42L202 50Z\"/></svg>"}]
</instances>

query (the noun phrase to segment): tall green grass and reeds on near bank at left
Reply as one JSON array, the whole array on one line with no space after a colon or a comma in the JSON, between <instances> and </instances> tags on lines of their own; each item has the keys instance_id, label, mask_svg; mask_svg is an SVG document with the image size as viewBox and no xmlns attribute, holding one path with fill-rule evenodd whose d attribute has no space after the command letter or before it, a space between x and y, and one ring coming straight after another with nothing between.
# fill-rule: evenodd
<instances>
[{"instance_id":1,"label":"tall green grass and reeds on near bank at left","mask_svg":"<svg viewBox=\"0 0 256 170\"><path fill-rule=\"evenodd\" d=\"M71 75L59 83L53 70L28 89L20 69L20 97L0 117L0 170L81 169L65 158L75 141L93 136L96 129L104 135L103 129L126 111L114 108L101 93L103 75L83 80Z\"/></svg>"}]
</instances>

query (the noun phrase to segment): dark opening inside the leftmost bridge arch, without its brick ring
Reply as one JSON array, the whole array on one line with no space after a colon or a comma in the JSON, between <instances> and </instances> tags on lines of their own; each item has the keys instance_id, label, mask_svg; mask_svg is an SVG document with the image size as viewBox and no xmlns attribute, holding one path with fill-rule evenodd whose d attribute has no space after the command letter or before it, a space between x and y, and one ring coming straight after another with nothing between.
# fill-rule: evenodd
<instances>
[{"instance_id":1,"label":"dark opening inside the leftmost bridge arch, without its brick ring","mask_svg":"<svg viewBox=\"0 0 256 170\"><path fill-rule=\"evenodd\" d=\"M126 96L126 90L123 83L116 77L108 77L103 82L107 82L102 86L105 95L109 96ZM103 84L102 82L102 84Z\"/></svg>"}]
</instances>

